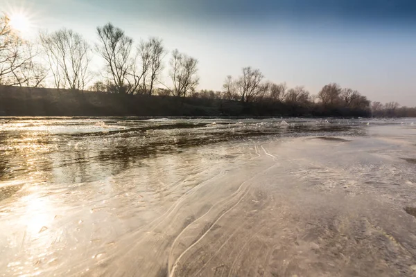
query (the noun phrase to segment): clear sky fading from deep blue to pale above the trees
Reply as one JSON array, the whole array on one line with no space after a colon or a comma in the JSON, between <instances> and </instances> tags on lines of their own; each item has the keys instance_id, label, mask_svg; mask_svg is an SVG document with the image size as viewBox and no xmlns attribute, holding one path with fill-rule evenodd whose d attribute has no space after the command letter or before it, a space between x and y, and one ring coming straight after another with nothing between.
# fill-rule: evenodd
<instances>
[{"instance_id":1,"label":"clear sky fading from deep blue to pale above the trees","mask_svg":"<svg viewBox=\"0 0 416 277\"><path fill-rule=\"evenodd\" d=\"M220 90L227 75L252 66L311 94L337 82L370 100L416 106L414 0L0 0L0 7L28 15L33 34L66 27L94 43L96 26L111 21L135 42L161 37L169 51L198 59L199 89Z\"/></svg>"}]
</instances>

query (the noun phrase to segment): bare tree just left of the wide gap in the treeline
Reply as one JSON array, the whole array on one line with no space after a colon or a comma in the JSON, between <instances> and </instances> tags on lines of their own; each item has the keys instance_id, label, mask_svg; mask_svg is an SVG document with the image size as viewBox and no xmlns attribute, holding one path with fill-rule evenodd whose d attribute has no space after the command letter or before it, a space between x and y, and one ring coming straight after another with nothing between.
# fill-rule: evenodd
<instances>
[{"instance_id":1,"label":"bare tree just left of the wide gap in the treeline","mask_svg":"<svg viewBox=\"0 0 416 277\"><path fill-rule=\"evenodd\" d=\"M171 78L173 82L173 96L187 96L187 93L196 89L199 83L198 60L186 54L173 51L171 57Z\"/></svg>"}]
</instances>

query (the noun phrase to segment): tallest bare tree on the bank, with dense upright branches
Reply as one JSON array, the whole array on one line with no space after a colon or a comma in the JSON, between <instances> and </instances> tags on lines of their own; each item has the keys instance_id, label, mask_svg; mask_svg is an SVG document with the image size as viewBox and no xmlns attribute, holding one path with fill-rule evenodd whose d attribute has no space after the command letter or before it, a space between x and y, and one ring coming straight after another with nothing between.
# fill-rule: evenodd
<instances>
[{"instance_id":1,"label":"tallest bare tree on the bank, with dense upright branches","mask_svg":"<svg viewBox=\"0 0 416 277\"><path fill-rule=\"evenodd\" d=\"M135 93L146 73L137 69L139 51L132 51L133 39L111 23L97 27L99 43L96 51L105 60L110 80L118 93Z\"/></svg>"}]
</instances>

